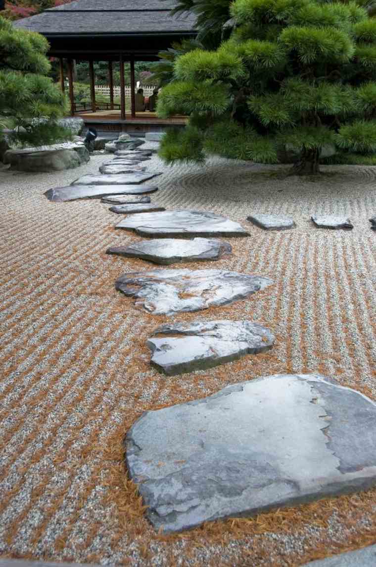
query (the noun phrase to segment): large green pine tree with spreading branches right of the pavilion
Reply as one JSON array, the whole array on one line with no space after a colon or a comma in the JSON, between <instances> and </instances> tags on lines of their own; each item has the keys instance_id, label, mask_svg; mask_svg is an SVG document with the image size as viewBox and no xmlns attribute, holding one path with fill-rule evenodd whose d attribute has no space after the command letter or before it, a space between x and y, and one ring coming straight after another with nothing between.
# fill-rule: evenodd
<instances>
[{"instance_id":1,"label":"large green pine tree with spreading branches right of the pavilion","mask_svg":"<svg viewBox=\"0 0 376 567\"><path fill-rule=\"evenodd\" d=\"M189 2L189 0L187 0ZM208 5L209 0L195 2ZM363 6L361 6L363 4ZM160 155L206 152L277 163L298 154L297 174L319 171L323 147L376 151L376 19L370 2L234 0L232 33L217 49L177 57L160 93L161 117L190 116ZM203 13L203 12L202 12Z\"/></svg>"}]
</instances>

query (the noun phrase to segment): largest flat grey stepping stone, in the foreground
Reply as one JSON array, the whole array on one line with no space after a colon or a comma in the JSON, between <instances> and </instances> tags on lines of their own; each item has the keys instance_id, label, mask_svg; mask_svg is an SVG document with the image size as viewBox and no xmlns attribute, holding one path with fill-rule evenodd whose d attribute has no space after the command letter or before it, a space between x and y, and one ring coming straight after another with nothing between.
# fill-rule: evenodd
<instances>
[{"instance_id":1,"label":"largest flat grey stepping stone, in the foreground","mask_svg":"<svg viewBox=\"0 0 376 567\"><path fill-rule=\"evenodd\" d=\"M144 413L126 464L156 530L376 484L376 404L315 374L266 376Z\"/></svg>"}]
</instances>

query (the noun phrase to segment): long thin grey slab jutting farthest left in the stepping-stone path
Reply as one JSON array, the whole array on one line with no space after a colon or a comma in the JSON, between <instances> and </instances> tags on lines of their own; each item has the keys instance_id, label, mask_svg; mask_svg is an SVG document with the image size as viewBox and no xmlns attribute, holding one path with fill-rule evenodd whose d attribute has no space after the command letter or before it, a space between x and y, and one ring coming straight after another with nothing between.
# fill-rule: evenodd
<instances>
[{"instance_id":1,"label":"long thin grey slab jutting farthest left in the stepping-stone path","mask_svg":"<svg viewBox=\"0 0 376 567\"><path fill-rule=\"evenodd\" d=\"M139 185L69 185L48 189L44 194L49 201L75 201L76 199L97 199L106 195L139 195L155 193L157 187L139 187Z\"/></svg>"}]
</instances>

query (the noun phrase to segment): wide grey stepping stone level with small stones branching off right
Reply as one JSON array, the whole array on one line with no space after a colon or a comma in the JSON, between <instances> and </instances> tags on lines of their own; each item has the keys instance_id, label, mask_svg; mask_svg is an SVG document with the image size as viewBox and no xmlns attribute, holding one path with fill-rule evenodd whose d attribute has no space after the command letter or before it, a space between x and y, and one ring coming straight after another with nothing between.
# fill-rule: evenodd
<instances>
[{"instance_id":1,"label":"wide grey stepping stone level with small stones branching off right","mask_svg":"<svg viewBox=\"0 0 376 567\"><path fill-rule=\"evenodd\" d=\"M249 236L237 222L207 211L174 210L127 217L116 229L141 236Z\"/></svg>"}]
</instances>

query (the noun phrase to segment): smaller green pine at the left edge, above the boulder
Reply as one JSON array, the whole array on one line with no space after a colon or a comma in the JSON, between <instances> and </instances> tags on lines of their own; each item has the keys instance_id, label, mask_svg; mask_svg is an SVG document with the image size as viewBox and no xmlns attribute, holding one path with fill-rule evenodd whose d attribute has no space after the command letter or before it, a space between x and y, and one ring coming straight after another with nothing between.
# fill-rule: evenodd
<instances>
[{"instance_id":1,"label":"smaller green pine at the left edge, above the boulder","mask_svg":"<svg viewBox=\"0 0 376 567\"><path fill-rule=\"evenodd\" d=\"M50 62L48 42L38 33L18 30L0 16L0 135L11 121L13 138L23 144L40 145L69 137L57 125L65 99L46 75ZM44 118L44 121L33 120Z\"/></svg>"}]
</instances>

